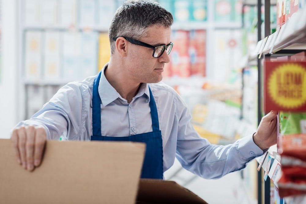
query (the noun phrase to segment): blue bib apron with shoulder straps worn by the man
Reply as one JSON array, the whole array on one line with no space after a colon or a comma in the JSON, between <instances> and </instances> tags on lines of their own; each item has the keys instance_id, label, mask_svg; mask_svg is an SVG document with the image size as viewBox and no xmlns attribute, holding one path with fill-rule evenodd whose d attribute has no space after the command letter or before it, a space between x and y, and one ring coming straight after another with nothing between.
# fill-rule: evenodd
<instances>
[{"instance_id":1,"label":"blue bib apron with shoulder straps worn by the man","mask_svg":"<svg viewBox=\"0 0 306 204\"><path fill-rule=\"evenodd\" d=\"M104 70L102 70L104 71ZM95 77L92 90L92 136L91 140L99 141L131 141L146 143L146 153L142 167L141 178L162 179L163 178L163 151L162 133L159 130L157 108L150 91L150 109L152 119L152 132L135 134L128 137L107 137L101 135L101 102L98 91L102 71Z\"/></svg>"}]
</instances>

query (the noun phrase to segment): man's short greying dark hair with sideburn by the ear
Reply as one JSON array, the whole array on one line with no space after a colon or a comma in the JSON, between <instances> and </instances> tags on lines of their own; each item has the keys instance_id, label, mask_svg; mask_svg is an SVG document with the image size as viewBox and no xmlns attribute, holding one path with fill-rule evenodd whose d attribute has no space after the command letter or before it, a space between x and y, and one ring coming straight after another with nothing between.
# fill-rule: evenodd
<instances>
[{"instance_id":1,"label":"man's short greying dark hair with sideburn by the ear","mask_svg":"<svg viewBox=\"0 0 306 204\"><path fill-rule=\"evenodd\" d=\"M136 40L146 36L146 28L159 25L170 28L173 16L159 3L146 0L130 0L120 6L110 24L108 36L110 53L114 54L113 37L126 36Z\"/></svg>"}]
</instances>

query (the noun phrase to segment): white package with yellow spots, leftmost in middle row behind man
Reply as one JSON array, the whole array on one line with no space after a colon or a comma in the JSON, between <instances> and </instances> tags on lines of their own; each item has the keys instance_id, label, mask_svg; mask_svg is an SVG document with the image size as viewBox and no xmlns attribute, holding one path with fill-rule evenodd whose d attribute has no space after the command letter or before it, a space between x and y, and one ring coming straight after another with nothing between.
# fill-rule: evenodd
<instances>
[{"instance_id":1,"label":"white package with yellow spots, leftmost in middle row behind man","mask_svg":"<svg viewBox=\"0 0 306 204\"><path fill-rule=\"evenodd\" d=\"M41 77L42 32L25 32L25 78L39 80Z\"/></svg>"}]
</instances>

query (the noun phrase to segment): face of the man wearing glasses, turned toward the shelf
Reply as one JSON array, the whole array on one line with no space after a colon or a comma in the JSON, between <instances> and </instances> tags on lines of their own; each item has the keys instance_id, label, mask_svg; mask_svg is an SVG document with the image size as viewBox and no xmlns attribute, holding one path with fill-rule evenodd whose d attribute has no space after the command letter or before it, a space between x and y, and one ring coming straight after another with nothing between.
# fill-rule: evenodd
<instances>
[{"instance_id":1,"label":"face of the man wearing glasses, turned toward the shelf","mask_svg":"<svg viewBox=\"0 0 306 204\"><path fill-rule=\"evenodd\" d=\"M158 25L147 28L147 36L140 40L150 45L168 45L171 29ZM157 83L162 80L164 64L170 62L165 50L159 58L153 58L153 49L129 43L128 75L136 83Z\"/></svg>"}]
</instances>

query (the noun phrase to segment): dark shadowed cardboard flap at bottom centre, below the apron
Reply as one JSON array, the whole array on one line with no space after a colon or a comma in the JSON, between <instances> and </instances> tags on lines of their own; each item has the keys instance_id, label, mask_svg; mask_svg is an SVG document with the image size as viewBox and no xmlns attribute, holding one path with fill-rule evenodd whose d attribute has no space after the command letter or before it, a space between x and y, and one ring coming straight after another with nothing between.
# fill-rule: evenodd
<instances>
[{"instance_id":1,"label":"dark shadowed cardboard flap at bottom centre, below the apron","mask_svg":"<svg viewBox=\"0 0 306 204\"><path fill-rule=\"evenodd\" d=\"M176 182L157 179L140 179L136 203L207 204L202 198Z\"/></svg>"}]
</instances>

